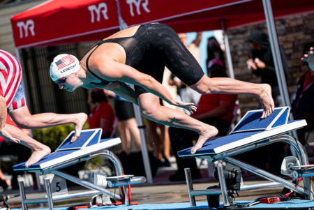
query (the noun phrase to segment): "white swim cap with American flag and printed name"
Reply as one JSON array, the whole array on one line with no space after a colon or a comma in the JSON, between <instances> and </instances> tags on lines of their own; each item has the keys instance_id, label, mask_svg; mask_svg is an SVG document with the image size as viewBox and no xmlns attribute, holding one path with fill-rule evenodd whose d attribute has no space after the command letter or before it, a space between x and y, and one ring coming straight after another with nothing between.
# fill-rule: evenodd
<instances>
[{"instance_id":1,"label":"white swim cap with American flag and printed name","mask_svg":"<svg viewBox=\"0 0 314 210\"><path fill-rule=\"evenodd\" d=\"M80 69L80 61L72 54L59 54L50 64L50 77L56 82L62 77L76 73Z\"/></svg>"}]
</instances>

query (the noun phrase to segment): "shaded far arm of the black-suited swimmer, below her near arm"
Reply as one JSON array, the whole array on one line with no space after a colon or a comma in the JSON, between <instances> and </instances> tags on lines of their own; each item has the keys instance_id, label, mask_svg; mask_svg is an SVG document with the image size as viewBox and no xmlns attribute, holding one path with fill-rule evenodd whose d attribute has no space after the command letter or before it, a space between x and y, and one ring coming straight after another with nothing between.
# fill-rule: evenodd
<instances>
[{"instance_id":1,"label":"shaded far arm of the black-suited swimmer, below her near arm","mask_svg":"<svg viewBox=\"0 0 314 210\"><path fill-rule=\"evenodd\" d=\"M123 82L112 82L105 86L105 89L113 91L118 96L125 98L126 100L138 105L138 102L135 97L135 91L128 87L128 85L124 84Z\"/></svg>"}]
</instances>

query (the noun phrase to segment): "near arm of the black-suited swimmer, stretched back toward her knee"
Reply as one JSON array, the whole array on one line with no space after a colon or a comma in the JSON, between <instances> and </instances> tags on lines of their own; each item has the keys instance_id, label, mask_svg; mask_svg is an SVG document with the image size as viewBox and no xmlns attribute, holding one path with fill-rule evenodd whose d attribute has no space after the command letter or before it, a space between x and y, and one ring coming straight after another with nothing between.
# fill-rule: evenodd
<instances>
[{"instance_id":1,"label":"near arm of the black-suited swimmer, stretched back toward her knee","mask_svg":"<svg viewBox=\"0 0 314 210\"><path fill-rule=\"evenodd\" d=\"M139 85L147 91L154 93L154 95L163 98L163 100L171 105L183 107L192 113L196 111L194 103L184 103L181 100L174 100L170 92L167 91L160 82L131 66L121 64L117 61L106 61L102 62L101 66L96 66L96 68L99 70L100 76L103 77L104 80L119 80L120 82Z\"/></svg>"}]
</instances>

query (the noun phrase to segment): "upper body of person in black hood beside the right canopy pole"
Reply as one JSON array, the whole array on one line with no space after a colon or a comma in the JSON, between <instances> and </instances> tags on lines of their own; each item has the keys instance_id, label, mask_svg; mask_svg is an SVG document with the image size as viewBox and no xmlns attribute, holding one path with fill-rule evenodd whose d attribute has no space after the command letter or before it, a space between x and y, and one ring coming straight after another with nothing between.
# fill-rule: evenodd
<instances>
[{"instance_id":1,"label":"upper body of person in black hood beside the right canopy pole","mask_svg":"<svg viewBox=\"0 0 314 210\"><path fill-rule=\"evenodd\" d=\"M252 70L253 74L261 77L262 83L271 85L271 95L274 98L275 106L282 106L274 60L271 54L271 46L266 33L259 30L253 30L250 36L248 36L248 41L252 45L252 57L246 61L248 69ZM283 61L285 75L287 75L287 59L285 58L285 52L283 52L282 48L281 59Z\"/></svg>"}]
</instances>

